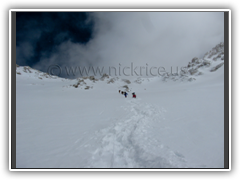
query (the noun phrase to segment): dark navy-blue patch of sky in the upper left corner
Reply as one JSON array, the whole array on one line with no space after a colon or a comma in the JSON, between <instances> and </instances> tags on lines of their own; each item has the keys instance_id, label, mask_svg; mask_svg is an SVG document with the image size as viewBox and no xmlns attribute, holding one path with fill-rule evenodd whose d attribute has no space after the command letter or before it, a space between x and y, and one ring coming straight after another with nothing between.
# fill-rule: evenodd
<instances>
[{"instance_id":1,"label":"dark navy-blue patch of sky in the upper left corner","mask_svg":"<svg viewBox=\"0 0 240 180\"><path fill-rule=\"evenodd\" d=\"M17 12L17 63L34 65L66 41L85 44L93 23L85 12Z\"/></svg>"}]
</instances>

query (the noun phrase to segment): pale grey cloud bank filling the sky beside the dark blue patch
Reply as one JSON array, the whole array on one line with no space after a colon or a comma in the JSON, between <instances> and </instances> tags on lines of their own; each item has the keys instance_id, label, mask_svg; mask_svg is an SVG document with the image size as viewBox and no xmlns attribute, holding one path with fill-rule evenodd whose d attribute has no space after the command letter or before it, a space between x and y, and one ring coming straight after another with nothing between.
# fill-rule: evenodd
<instances>
[{"instance_id":1,"label":"pale grey cloud bank filling the sky beside the dark blue patch","mask_svg":"<svg viewBox=\"0 0 240 180\"><path fill-rule=\"evenodd\" d=\"M93 12L87 21L94 23L87 43L63 41L34 67L60 63L108 69L133 63L167 69L186 66L224 41L223 12ZM24 53L31 55L29 44Z\"/></svg>"}]
</instances>

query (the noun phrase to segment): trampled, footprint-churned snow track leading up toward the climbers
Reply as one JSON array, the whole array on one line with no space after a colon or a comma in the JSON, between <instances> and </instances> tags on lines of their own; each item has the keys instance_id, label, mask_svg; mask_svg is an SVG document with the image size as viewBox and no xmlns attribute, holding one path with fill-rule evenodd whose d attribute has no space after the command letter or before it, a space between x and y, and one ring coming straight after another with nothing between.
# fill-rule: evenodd
<instances>
[{"instance_id":1,"label":"trampled, footprint-churned snow track leading up toward the climbers","mask_svg":"<svg viewBox=\"0 0 240 180\"><path fill-rule=\"evenodd\" d=\"M165 120L159 110L141 99L127 100L126 116L97 132L101 145L88 168L177 168L186 167L184 156L171 151L151 133Z\"/></svg>"}]
</instances>

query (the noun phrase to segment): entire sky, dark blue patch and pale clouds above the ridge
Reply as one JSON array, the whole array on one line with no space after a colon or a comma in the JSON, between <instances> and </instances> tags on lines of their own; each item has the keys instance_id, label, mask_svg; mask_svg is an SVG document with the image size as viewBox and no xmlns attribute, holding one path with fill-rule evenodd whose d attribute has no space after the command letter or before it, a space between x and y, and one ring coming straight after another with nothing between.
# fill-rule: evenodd
<instances>
[{"instance_id":1,"label":"entire sky, dark blue patch and pale clouds above the ridge","mask_svg":"<svg viewBox=\"0 0 240 180\"><path fill-rule=\"evenodd\" d=\"M183 67L224 42L223 12L17 12L16 21L17 64L44 72Z\"/></svg>"}]
</instances>

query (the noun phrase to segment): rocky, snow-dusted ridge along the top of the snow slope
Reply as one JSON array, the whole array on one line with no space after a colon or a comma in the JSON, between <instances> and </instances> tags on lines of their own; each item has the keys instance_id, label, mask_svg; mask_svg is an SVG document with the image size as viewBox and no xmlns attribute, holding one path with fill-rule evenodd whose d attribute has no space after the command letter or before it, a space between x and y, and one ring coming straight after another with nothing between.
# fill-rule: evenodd
<instances>
[{"instance_id":1,"label":"rocky, snow-dusted ridge along the top of the snow slope","mask_svg":"<svg viewBox=\"0 0 240 180\"><path fill-rule=\"evenodd\" d=\"M137 83L141 84L142 82L151 81L152 79L161 79L162 81L193 81L196 80L198 76L202 76L204 74L208 74L209 72L214 72L221 68L224 65L224 43L219 43L216 45L212 50L207 52L203 58L194 57L187 66L177 68L177 72L166 72L163 73L162 76L152 77L152 78L142 78L138 77L134 81L130 81L127 79L120 79L118 77L110 77L107 74L104 74L100 79L96 79L94 76L90 77L82 77L77 78L71 86L80 89L91 89L93 88L94 84L89 83L87 84L86 81L90 80L89 82L96 83L97 81L105 81L107 84L114 83L114 82L125 82L125 84ZM18 66L16 69L17 75L24 75L28 77L35 77L39 79L57 79L59 77L49 75L48 73L40 72L38 70L32 69L28 66ZM28 74L28 75L27 75ZM64 79L64 78L60 78ZM129 90L129 89L127 89Z\"/></svg>"}]
</instances>

